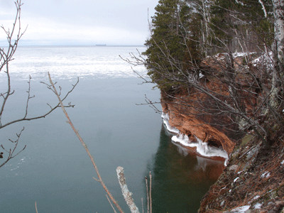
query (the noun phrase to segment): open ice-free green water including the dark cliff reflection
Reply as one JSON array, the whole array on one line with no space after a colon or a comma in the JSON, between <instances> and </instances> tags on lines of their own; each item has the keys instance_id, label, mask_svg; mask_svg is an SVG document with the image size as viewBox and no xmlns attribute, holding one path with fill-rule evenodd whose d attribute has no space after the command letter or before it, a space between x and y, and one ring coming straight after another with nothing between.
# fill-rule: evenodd
<instances>
[{"instance_id":1,"label":"open ice-free green water including the dark cliff reflection","mask_svg":"<svg viewBox=\"0 0 284 213\"><path fill-rule=\"evenodd\" d=\"M197 212L202 196L216 180L214 169L222 163L186 155L175 146L160 114L136 105L143 102L143 94L159 98L158 91L138 82L135 78L80 82L68 100L76 104L67 109L70 117L94 155L104 182L126 212L129 209L116 179L119 165L125 168L126 182L140 209L141 197L146 201L144 177L151 170L153 212ZM68 84L63 81L62 87ZM45 109L45 102L53 102L49 91L40 88L35 86L43 95L31 104L31 114ZM11 106L19 100L10 102ZM35 212L35 202L40 213L111 212L102 186L92 179L92 164L65 120L58 110L45 119L1 131L4 145L9 146L8 138L25 126L19 146L26 144L27 148L1 168L0 212Z\"/></svg>"}]
</instances>

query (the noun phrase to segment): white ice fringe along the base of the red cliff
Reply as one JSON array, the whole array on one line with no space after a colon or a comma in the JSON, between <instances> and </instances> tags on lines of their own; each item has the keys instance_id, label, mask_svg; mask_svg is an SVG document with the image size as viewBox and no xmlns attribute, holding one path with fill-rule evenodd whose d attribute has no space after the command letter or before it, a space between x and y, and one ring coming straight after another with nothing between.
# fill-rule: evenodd
<instances>
[{"instance_id":1,"label":"white ice fringe along the base of the red cliff","mask_svg":"<svg viewBox=\"0 0 284 213\"><path fill-rule=\"evenodd\" d=\"M181 143L183 146L190 146L190 147L196 147L196 151L197 153L199 153L200 155L204 156L204 157L222 157L225 158L225 165L227 163L227 160L229 159L228 154L226 153L226 151L224 151L222 148L215 148L212 146L208 146L207 142L203 142L202 140L200 140L200 138L196 138L196 142L190 141L190 138L185 135L180 133L180 131L178 129L176 129L173 126L170 126L169 124L169 115L168 114L163 114L162 115L163 118L163 123L165 124L166 128L168 129L168 131L176 133L177 135L172 137L172 141L176 142L176 143Z\"/></svg>"}]
</instances>

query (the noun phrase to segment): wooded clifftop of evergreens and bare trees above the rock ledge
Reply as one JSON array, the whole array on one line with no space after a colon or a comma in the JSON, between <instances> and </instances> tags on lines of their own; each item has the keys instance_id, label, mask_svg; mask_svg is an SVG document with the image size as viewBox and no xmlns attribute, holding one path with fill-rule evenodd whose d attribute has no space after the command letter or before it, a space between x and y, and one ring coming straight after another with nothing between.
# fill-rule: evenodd
<instances>
[{"instance_id":1,"label":"wooded clifftop of evergreens and bare trees above the rock ledge","mask_svg":"<svg viewBox=\"0 0 284 213\"><path fill-rule=\"evenodd\" d=\"M283 122L283 0L160 0L143 64L162 102L271 146ZM146 58L144 58L144 55Z\"/></svg>"}]
</instances>

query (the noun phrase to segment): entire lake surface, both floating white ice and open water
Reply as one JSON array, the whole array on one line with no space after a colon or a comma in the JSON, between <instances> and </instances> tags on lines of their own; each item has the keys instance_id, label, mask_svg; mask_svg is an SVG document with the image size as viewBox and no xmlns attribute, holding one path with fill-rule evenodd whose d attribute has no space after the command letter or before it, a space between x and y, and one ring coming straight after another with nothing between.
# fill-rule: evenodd
<instances>
[{"instance_id":1,"label":"entire lake surface, both floating white ice and open water","mask_svg":"<svg viewBox=\"0 0 284 213\"><path fill-rule=\"evenodd\" d=\"M153 174L153 212L197 212L202 196L222 171L222 162L188 154L170 140L160 114L145 103L160 98L153 84L141 84L131 66L121 60L145 47L19 47L10 72L15 93L6 104L2 124L23 116L31 75L28 116L48 111L57 97L40 82L47 72L62 93L80 82L66 100L75 104L68 114L89 147L102 178L125 212L129 212L116 178L125 170L126 182L141 210L146 211L145 176ZM146 75L144 67L135 67ZM0 89L6 78L0 73ZM160 108L160 106L158 106ZM1 144L11 147L23 126L19 150L26 150L0 168L0 212L113 212L92 163L61 109L45 119L1 129ZM6 157L4 153L4 158ZM2 159L3 160L3 159ZM0 160L1 163L1 160Z\"/></svg>"}]
</instances>

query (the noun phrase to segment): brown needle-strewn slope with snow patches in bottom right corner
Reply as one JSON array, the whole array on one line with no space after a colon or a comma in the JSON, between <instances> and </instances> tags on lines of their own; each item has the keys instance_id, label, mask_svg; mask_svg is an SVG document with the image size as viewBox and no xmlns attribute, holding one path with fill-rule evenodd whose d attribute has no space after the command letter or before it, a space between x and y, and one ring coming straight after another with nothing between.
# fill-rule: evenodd
<instances>
[{"instance_id":1,"label":"brown needle-strewn slope with snow patches in bottom right corner","mask_svg":"<svg viewBox=\"0 0 284 213\"><path fill-rule=\"evenodd\" d=\"M266 148L249 134L236 146L219 180L204 195L199 212L284 212L283 137Z\"/></svg>"}]
</instances>

